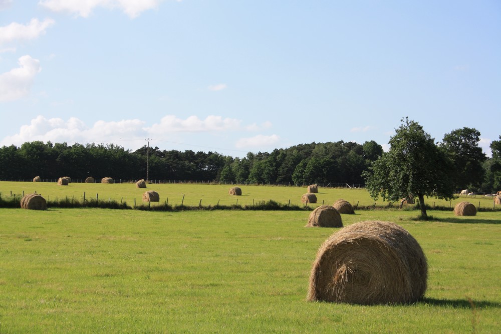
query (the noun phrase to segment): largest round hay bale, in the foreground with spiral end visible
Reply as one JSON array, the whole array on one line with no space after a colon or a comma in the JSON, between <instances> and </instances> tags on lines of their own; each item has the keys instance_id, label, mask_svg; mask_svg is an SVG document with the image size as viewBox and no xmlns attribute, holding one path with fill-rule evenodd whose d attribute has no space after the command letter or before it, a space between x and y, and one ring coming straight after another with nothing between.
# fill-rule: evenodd
<instances>
[{"instance_id":1,"label":"largest round hay bale, in the foreground with spiral end visible","mask_svg":"<svg viewBox=\"0 0 501 334\"><path fill-rule=\"evenodd\" d=\"M401 226L364 221L331 235L317 253L308 300L355 304L412 303L426 291L421 246Z\"/></svg>"}]
</instances>

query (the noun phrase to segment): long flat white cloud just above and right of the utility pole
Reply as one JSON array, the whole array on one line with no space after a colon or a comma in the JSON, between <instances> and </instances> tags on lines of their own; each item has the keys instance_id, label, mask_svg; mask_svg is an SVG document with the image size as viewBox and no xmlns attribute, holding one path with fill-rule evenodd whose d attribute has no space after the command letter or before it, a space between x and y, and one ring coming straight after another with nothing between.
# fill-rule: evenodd
<instances>
[{"instance_id":1,"label":"long flat white cloud just above and right of the utility pole","mask_svg":"<svg viewBox=\"0 0 501 334\"><path fill-rule=\"evenodd\" d=\"M202 132L236 130L240 127L240 122L234 118L222 118L221 116L207 116L204 120L197 116L190 116L183 120L174 115L167 115L160 120L160 123L153 124L147 128L152 135L161 135L169 132Z\"/></svg>"}]
</instances>

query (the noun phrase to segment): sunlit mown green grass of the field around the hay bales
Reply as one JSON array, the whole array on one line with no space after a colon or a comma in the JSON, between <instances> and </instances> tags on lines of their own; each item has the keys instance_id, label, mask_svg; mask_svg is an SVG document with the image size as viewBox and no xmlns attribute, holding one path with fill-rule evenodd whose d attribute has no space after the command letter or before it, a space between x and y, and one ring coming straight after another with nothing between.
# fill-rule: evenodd
<instances>
[{"instance_id":1,"label":"sunlit mown green grass of the field around the hay bales","mask_svg":"<svg viewBox=\"0 0 501 334\"><path fill-rule=\"evenodd\" d=\"M65 196L6 184L0 183L3 196L10 187ZM85 186L72 185L64 188ZM111 186L104 196L135 191L134 185L92 186L99 188L85 189ZM187 189L177 186L165 185L169 198ZM217 201L220 192L222 201L228 188L193 187L202 188L190 194L203 193L207 201ZM304 193L296 187L252 190L256 200L276 194L268 199L283 202ZM341 190L321 189L319 197L332 204L351 192L356 196L345 199L370 200L365 190ZM454 217L431 210L434 220L425 222L413 219L418 214L342 216L345 225L398 223L428 258L423 301L362 306L305 300L316 252L336 231L305 228L308 211L0 209L0 332L498 332L501 212Z\"/></svg>"}]
</instances>

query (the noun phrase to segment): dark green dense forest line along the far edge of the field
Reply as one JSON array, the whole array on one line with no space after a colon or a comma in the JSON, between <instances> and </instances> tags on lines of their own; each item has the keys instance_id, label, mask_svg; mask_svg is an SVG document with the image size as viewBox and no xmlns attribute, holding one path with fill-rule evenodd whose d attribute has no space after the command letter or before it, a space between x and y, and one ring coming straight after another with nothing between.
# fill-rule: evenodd
<instances>
[{"instance_id":1,"label":"dark green dense forest line along the far edge of the field","mask_svg":"<svg viewBox=\"0 0 501 334\"><path fill-rule=\"evenodd\" d=\"M501 136L491 144L492 158L478 147L480 133L463 128L446 134L439 147L454 166L456 189L501 190ZM184 152L142 147L126 150L114 144L26 142L0 148L0 180L75 180L112 177L159 181L206 181L238 184L323 184L363 186L362 174L383 154L375 141L299 144L272 152L247 153L243 158L217 152ZM449 167L450 168L450 167Z\"/></svg>"}]
</instances>

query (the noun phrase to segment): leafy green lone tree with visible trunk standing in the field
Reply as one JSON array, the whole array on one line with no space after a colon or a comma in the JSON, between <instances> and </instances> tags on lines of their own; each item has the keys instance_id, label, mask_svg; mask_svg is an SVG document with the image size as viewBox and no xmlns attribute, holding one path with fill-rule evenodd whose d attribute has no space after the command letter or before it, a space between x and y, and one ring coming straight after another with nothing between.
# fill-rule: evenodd
<instances>
[{"instance_id":1,"label":"leafy green lone tree with visible trunk standing in the field","mask_svg":"<svg viewBox=\"0 0 501 334\"><path fill-rule=\"evenodd\" d=\"M366 187L375 200L417 197L421 218L426 219L424 196L445 200L453 196L449 160L417 122L407 117L401 122L388 142L390 150L364 172Z\"/></svg>"}]
</instances>

